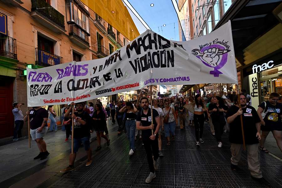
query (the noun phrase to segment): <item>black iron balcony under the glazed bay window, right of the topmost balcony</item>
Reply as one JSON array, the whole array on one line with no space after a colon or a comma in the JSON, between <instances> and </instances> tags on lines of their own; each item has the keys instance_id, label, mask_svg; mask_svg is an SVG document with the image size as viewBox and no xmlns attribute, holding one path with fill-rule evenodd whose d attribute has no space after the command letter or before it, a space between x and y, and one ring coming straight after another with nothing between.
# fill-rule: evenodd
<instances>
[{"instance_id":1,"label":"black iron balcony under the glazed bay window, right of the topmost balcony","mask_svg":"<svg viewBox=\"0 0 282 188\"><path fill-rule=\"evenodd\" d=\"M89 36L84 29L77 24L70 24L70 39L82 48L89 48Z\"/></svg>"}]
</instances>

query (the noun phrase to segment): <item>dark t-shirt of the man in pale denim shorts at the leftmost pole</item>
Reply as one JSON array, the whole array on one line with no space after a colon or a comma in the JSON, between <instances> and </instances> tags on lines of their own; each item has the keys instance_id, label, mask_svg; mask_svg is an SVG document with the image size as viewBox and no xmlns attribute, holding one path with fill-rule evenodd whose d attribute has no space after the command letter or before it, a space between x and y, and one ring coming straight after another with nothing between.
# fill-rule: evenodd
<instances>
[{"instance_id":1,"label":"dark t-shirt of the man in pale denim shorts at the leftmost pole","mask_svg":"<svg viewBox=\"0 0 282 188\"><path fill-rule=\"evenodd\" d=\"M35 110L34 108L29 111L29 119L30 119L30 129L34 130L41 127L43 123L43 118L48 118L49 114L45 108L39 108ZM45 127L47 127L47 123Z\"/></svg>"}]
</instances>

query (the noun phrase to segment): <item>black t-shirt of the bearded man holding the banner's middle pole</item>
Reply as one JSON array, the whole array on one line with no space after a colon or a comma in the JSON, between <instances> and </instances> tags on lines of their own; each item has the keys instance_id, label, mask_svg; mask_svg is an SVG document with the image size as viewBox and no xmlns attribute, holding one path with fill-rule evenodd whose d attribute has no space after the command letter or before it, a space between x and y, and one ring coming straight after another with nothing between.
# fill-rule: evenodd
<instances>
[{"instance_id":1,"label":"black t-shirt of the bearded man holding the banner's middle pole","mask_svg":"<svg viewBox=\"0 0 282 188\"><path fill-rule=\"evenodd\" d=\"M144 110L142 110L141 112L138 112L136 121L140 121L141 122L141 126L147 127L150 126L152 123L152 117L151 117L151 109L149 108L148 113L145 115ZM156 130L157 127L157 122L155 120L155 118L159 117L159 113L157 110L153 109L153 124L154 124L154 132ZM150 136L152 135L152 129L147 129L147 130L142 130L142 140L151 140ZM159 134L156 134L156 138L157 139L159 136Z\"/></svg>"}]
</instances>

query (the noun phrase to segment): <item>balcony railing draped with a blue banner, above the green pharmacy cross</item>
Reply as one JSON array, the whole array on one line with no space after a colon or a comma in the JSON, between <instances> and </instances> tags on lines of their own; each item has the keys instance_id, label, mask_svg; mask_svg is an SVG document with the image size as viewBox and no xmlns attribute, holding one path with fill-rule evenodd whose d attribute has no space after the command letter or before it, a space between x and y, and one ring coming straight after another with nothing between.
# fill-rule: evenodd
<instances>
[{"instance_id":1,"label":"balcony railing draped with a blue banner, above the green pharmacy cross","mask_svg":"<svg viewBox=\"0 0 282 188\"><path fill-rule=\"evenodd\" d=\"M63 58L59 55L51 54L50 52L40 50L39 48L35 48L35 55L35 65L47 67L63 63Z\"/></svg>"}]
</instances>

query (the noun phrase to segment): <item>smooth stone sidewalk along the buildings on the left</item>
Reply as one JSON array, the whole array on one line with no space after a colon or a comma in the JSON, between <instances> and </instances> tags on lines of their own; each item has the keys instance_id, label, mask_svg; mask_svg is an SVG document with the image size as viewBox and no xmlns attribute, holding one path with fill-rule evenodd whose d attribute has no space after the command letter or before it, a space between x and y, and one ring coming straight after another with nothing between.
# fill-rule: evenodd
<instances>
[{"instance_id":1,"label":"smooth stone sidewalk along the buildings on the left","mask_svg":"<svg viewBox=\"0 0 282 188\"><path fill-rule=\"evenodd\" d=\"M107 121L109 130L108 138L114 139L117 135L117 123L112 125L111 120ZM96 133L91 134L91 148L93 154L97 147ZM11 138L12 139L12 138ZM49 157L44 160L34 160L39 150L35 141L31 140L31 148L28 147L28 139L16 141L12 144L0 146L0 187L35 187L44 181L55 176L60 170L69 165L69 154L71 139L65 141L65 131L58 130L47 132L44 138ZM106 141L101 140L102 147L106 146ZM76 155L76 165L86 159L83 148L79 149Z\"/></svg>"}]
</instances>

